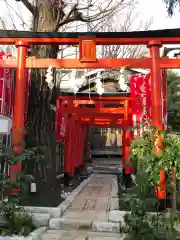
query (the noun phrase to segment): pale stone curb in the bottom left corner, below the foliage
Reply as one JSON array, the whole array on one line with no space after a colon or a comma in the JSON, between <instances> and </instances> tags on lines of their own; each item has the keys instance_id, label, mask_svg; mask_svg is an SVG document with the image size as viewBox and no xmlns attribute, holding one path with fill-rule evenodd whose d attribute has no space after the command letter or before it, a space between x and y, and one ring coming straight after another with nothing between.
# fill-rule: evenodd
<instances>
[{"instance_id":1,"label":"pale stone curb in the bottom left corner, below the foliage","mask_svg":"<svg viewBox=\"0 0 180 240\"><path fill-rule=\"evenodd\" d=\"M41 227L33 231L29 236L0 236L0 240L42 240L42 234L47 231L47 227Z\"/></svg>"}]
</instances>

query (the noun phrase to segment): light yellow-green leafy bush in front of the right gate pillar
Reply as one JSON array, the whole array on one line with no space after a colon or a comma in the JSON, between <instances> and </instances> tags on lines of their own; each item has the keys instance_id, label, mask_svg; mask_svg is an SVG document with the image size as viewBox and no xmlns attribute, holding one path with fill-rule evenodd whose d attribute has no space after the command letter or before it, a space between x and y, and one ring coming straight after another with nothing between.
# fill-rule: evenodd
<instances>
[{"instance_id":1,"label":"light yellow-green leafy bush in front of the right gate pillar","mask_svg":"<svg viewBox=\"0 0 180 240\"><path fill-rule=\"evenodd\" d=\"M163 139L163 149L156 156L154 154L157 135ZM172 189L172 166L176 167L177 180L180 180L180 138L159 132L150 127L136 137L131 144L130 160L136 160L138 170L148 174L148 182L152 186L159 184L160 169L163 168L167 175L167 188Z\"/></svg>"}]
</instances>

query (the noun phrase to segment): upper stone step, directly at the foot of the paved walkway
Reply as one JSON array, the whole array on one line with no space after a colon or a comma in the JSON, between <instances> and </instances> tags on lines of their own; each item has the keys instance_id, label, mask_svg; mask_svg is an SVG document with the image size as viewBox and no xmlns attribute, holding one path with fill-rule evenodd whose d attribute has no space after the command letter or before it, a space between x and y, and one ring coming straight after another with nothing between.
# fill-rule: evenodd
<instances>
[{"instance_id":1,"label":"upper stone step, directly at the foot of the paved walkway","mask_svg":"<svg viewBox=\"0 0 180 240\"><path fill-rule=\"evenodd\" d=\"M49 221L49 229L60 230L86 230L93 232L109 232L119 233L121 223L120 222L108 222L101 220L87 220L76 218L51 218Z\"/></svg>"}]
</instances>

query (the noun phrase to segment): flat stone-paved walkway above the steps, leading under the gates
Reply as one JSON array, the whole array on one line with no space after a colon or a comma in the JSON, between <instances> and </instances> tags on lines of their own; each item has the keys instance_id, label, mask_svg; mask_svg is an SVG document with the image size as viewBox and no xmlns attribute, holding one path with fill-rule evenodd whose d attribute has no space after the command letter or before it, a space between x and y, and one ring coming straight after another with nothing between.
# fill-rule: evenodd
<instances>
[{"instance_id":1,"label":"flat stone-paved walkway above the steps, leading under the gates","mask_svg":"<svg viewBox=\"0 0 180 240\"><path fill-rule=\"evenodd\" d=\"M94 175L64 213L63 218L71 218L72 215L76 214L77 218L80 215L82 219L87 219L86 215L89 211L92 211L90 215L92 220L97 219L97 212L102 212L102 215L106 216L113 184L113 175Z\"/></svg>"}]
</instances>

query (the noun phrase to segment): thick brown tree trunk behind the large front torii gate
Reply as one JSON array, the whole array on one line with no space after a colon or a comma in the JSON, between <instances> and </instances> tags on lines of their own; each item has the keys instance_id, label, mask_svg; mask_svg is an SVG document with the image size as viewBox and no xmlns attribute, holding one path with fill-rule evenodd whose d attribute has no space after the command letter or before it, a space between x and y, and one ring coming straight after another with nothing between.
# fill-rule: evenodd
<instances>
[{"instance_id":1,"label":"thick brown tree trunk behind the large front torii gate","mask_svg":"<svg viewBox=\"0 0 180 240\"><path fill-rule=\"evenodd\" d=\"M37 0L38 15L35 16L33 21L33 31L55 31L58 12L57 7L52 2L50 0ZM32 48L32 56L57 58L58 50L59 46L35 46ZM52 90L45 81L45 75L45 69L34 69L31 73L27 118L29 142L27 147L44 147L45 160L48 165L46 178L52 177L52 180L54 180L56 164L55 112L50 109L49 105L55 105L58 89L56 88L55 71L53 73L55 87ZM49 183L49 181L47 182Z\"/></svg>"}]
</instances>

